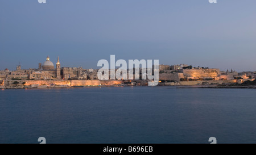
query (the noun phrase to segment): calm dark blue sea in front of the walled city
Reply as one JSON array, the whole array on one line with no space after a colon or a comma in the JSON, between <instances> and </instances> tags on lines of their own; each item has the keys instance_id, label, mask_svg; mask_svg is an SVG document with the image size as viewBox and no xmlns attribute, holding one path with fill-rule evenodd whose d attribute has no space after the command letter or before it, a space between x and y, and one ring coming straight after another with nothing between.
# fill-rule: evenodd
<instances>
[{"instance_id":1,"label":"calm dark blue sea in front of the walled city","mask_svg":"<svg viewBox=\"0 0 256 155\"><path fill-rule=\"evenodd\" d=\"M0 143L256 143L256 89L0 90Z\"/></svg>"}]
</instances>

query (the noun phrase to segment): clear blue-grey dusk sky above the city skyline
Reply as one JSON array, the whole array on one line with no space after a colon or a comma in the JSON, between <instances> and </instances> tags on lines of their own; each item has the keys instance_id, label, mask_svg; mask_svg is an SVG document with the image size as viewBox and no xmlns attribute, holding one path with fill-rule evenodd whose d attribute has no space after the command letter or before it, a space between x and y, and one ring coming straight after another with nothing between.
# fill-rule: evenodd
<instances>
[{"instance_id":1,"label":"clear blue-grey dusk sky above the city skyline","mask_svg":"<svg viewBox=\"0 0 256 155\"><path fill-rule=\"evenodd\" d=\"M256 70L255 0L1 0L0 70L159 59Z\"/></svg>"}]
</instances>

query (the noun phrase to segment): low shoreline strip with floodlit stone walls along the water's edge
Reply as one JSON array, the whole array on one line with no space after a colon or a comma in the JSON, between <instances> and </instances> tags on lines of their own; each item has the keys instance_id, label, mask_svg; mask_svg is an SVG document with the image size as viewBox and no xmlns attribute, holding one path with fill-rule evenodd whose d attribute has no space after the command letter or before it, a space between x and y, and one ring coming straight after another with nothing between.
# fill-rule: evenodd
<instances>
[{"instance_id":1,"label":"low shoreline strip with floodlit stone walls along the water's edge","mask_svg":"<svg viewBox=\"0 0 256 155\"><path fill-rule=\"evenodd\" d=\"M123 86L148 86L146 80L7 80L0 89L53 89L71 87L123 87ZM253 81L238 84L236 80L216 81L176 81L160 82L157 86L176 86L177 89L255 89Z\"/></svg>"}]
</instances>

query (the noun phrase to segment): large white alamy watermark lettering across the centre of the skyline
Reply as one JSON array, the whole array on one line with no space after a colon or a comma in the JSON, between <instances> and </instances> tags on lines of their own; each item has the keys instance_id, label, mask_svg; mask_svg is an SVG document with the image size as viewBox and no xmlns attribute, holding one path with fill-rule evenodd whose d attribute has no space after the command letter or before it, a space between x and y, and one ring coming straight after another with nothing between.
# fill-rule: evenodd
<instances>
[{"instance_id":1,"label":"large white alamy watermark lettering across the centre of the skyline","mask_svg":"<svg viewBox=\"0 0 256 155\"><path fill-rule=\"evenodd\" d=\"M140 79L141 77L141 79L148 80L148 86L156 86L159 82L159 60L154 60L154 65L152 65L152 60L129 60L127 68L125 60L119 59L115 62L115 55L110 55L110 65L108 60L101 59L97 66L102 67L97 73L100 80ZM115 69L115 67L119 68Z\"/></svg>"}]
</instances>

